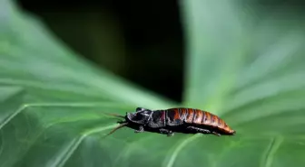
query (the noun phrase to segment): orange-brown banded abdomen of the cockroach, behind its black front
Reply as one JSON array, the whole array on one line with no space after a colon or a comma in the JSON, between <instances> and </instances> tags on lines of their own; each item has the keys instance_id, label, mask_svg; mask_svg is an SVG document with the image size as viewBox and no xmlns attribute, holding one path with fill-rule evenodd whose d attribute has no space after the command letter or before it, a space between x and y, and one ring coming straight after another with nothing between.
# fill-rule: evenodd
<instances>
[{"instance_id":1,"label":"orange-brown banded abdomen of the cockroach, behind its black front","mask_svg":"<svg viewBox=\"0 0 305 167\"><path fill-rule=\"evenodd\" d=\"M227 133L232 133L233 130L220 117L213 115L207 111L193 108L172 108L175 119L184 120L188 124L193 125L209 125L216 127Z\"/></svg>"}]
</instances>

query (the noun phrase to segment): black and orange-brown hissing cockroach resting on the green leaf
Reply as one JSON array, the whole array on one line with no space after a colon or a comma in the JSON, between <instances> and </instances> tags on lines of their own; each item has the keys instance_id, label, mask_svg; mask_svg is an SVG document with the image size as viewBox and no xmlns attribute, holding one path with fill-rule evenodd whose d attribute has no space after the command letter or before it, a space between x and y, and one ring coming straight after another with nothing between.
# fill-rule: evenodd
<instances>
[{"instance_id":1,"label":"black and orange-brown hissing cockroach resting on the green leaf","mask_svg":"<svg viewBox=\"0 0 305 167\"><path fill-rule=\"evenodd\" d=\"M155 132L172 136L174 133L184 134L212 134L212 135L234 135L231 129L220 117L200 109L176 107L163 110L150 110L137 107L133 113L126 116L109 114L121 117L121 125L115 127L108 135L113 134L119 128L127 126L135 129L135 133Z\"/></svg>"}]
</instances>

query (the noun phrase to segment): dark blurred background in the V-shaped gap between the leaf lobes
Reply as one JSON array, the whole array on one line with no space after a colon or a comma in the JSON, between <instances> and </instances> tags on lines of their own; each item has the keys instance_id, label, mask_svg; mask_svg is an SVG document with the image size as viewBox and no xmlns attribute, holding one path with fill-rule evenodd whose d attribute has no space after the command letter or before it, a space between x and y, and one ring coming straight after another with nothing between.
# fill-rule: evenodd
<instances>
[{"instance_id":1,"label":"dark blurred background in the V-shaped gap between the leaf lobes","mask_svg":"<svg viewBox=\"0 0 305 167\"><path fill-rule=\"evenodd\" d=\"M18 2L88 60L182 101L185 51L178 1Z\"/></svg>"}]
</instances>

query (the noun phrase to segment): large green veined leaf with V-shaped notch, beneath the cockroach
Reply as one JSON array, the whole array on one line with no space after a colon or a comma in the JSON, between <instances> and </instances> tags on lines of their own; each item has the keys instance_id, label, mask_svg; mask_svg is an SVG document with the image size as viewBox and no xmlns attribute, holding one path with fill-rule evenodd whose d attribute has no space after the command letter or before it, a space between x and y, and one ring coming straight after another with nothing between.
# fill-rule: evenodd
<instances>
[{"instance_id":1,"label":"large green veined leaf with V-shaped notch, beneath the cockroach","mask_svg":"<svg viewBox=\"0 0 305 167\"><path fill-rule=\"evenodd\" d=\"M0 1L0 166L302 166L304 23L229 2L182 1L186 88L175 104L94 68ZM237 135L103 137L116 125L103 112L178 105L212 111Z\"/></svg>"}]
</instances>

